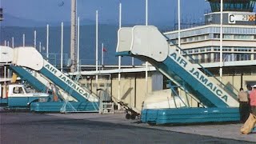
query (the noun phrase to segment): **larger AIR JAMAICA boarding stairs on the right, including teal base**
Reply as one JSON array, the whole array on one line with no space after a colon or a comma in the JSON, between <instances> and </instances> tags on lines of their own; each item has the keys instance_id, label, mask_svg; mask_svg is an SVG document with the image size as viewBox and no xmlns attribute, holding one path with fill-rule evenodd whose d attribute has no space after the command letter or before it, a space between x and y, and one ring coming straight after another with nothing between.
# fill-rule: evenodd
<instances>
[{"instance_id":1,"label":"larger AIR JAMAICA boarding stairs on the right, including teal base","mask_svg":"<svg viewBox=\"0 0 256 144\"><path fill-rule=\"evenodd\" d=\"M155 26L123 27L118 30L118 56L150 62L182 90L197 98L203 107L149 108L144 103L142 122L151 124L239 121L236 94L222 82L208 78L177 50Z\"/></svg>"}]
</instances>

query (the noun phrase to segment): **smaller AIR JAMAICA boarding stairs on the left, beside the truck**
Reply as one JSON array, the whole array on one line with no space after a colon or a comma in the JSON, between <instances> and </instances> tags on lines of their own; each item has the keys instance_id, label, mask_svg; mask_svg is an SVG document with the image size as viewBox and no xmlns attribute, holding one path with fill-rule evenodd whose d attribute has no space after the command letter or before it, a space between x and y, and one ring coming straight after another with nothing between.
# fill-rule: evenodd
<instances>
[{"instance_id":1,"label":"smaller AIR JAMAICA boarding stairs on the left, beside the truck","mask_svg":"<svg viewBox=\"0 0 256 144\"><path fill-rule=\"evenodd\" d=\"M33 111L59 112L63 106L66 111L98 111L99 98L86 87L63 74L47 62L34 47L10 48L1 46L1 63L8 64L22 80L26 80L36 90L58 88L62 101L34 102L30 105ZM53 86L54 85L54 86ZM68 105L66 105L66 102Z\"/></svg>"}]
</instances>

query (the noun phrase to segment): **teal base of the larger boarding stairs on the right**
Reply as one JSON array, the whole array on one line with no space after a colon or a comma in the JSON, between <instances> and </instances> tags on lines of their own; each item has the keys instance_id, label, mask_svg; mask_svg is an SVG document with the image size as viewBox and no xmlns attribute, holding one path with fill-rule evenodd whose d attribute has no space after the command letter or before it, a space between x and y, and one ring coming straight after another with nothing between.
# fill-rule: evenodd
<instances>
[{"instance_id":1,"label":"teal base of the larger boarding stairs on the right","mask_svg":"<svg viewBox=\"0 0 256 144\"><path fill-rule=\"evenodd\" d=\"M238 108L146 109L142 110L141 120L150 124L237 122L240 115Z\"/></svg>"}]
</instances>

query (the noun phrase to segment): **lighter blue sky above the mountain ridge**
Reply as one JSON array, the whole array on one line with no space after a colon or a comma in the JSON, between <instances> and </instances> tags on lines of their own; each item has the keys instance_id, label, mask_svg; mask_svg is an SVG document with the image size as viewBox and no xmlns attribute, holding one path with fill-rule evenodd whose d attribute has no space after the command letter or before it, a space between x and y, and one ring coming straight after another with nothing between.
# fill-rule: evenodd
<instances>
[{"instance_id":1,"label":"lighter blue sky above the mountain ridge","mask_svg":"<svg viewBox=\"0 0 256 144\"><path fill-rule=\"evenodd\" d=\"M180 0L182 19L203 18L210 10L205 0ZM122 22L145 23L146 0L77 0L78 17L99 22L118 22L119 3L122 3ZM0 0L4 14L38 22L69 22L70 0ZM148 0L148 22L173 22L177 19L178 0Z\"/></svg>"}]
</instances>

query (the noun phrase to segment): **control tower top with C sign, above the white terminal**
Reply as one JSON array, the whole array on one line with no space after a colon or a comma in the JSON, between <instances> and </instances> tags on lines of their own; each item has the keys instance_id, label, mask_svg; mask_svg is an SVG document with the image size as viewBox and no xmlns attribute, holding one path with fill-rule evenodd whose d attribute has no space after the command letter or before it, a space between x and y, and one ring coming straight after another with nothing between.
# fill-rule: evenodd
<instances>
[{"instance_id":1,"label":"control tower top with C sign, above the white terminal","mask_svg":"<svg viewBox=\"0 0 256 144\"><path fill-rule=\"evenodd\" d=\"M221 0L207 1L210 2L211 13L205 14L206 24L219 24ZM255 3L256 0L223 0L223 24L254 26Z\"/></svg>"}]
</instances>

